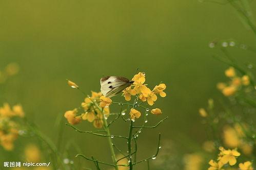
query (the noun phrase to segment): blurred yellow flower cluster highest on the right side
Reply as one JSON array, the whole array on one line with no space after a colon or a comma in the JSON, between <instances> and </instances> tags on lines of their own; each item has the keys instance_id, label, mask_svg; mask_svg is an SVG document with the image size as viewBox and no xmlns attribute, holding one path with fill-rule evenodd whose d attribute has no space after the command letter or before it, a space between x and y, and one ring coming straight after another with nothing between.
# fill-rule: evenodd
<instances>
[{"instance_id":1,"label":"blurred yellow flower cluster highest on the right side","mask_svg":"<svg viewBox=\"0 0 256 170\"><path fill-rule=\"evenodd\" d=\"M242 86L248 86L250 84L250 78L247 75L239 77L233 67L229 67L225 70L226 77L230 78L227 83L218 83L217 88L222 91L225 96L231 96L235 94Z\"/></svg>"}]
</instances>

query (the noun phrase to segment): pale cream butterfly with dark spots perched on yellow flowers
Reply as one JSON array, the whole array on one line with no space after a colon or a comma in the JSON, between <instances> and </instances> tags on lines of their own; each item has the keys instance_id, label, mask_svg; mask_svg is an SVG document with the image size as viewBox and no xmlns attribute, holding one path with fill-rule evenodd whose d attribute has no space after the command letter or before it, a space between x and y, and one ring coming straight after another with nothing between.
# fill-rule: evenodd
<instances>
[{"instance_id":1,"label":"pale cream butterfly with dark spots perched on yellow flowers","mask_svg":"<svg viewBox=\"0 0 256 170\"><path fill-rule=\"evenodd\" d=\"M124 77L104 77L101 78L101 92L107 98L111 98L129 87L133 82Z\"/></svg>"}]
</instances>

